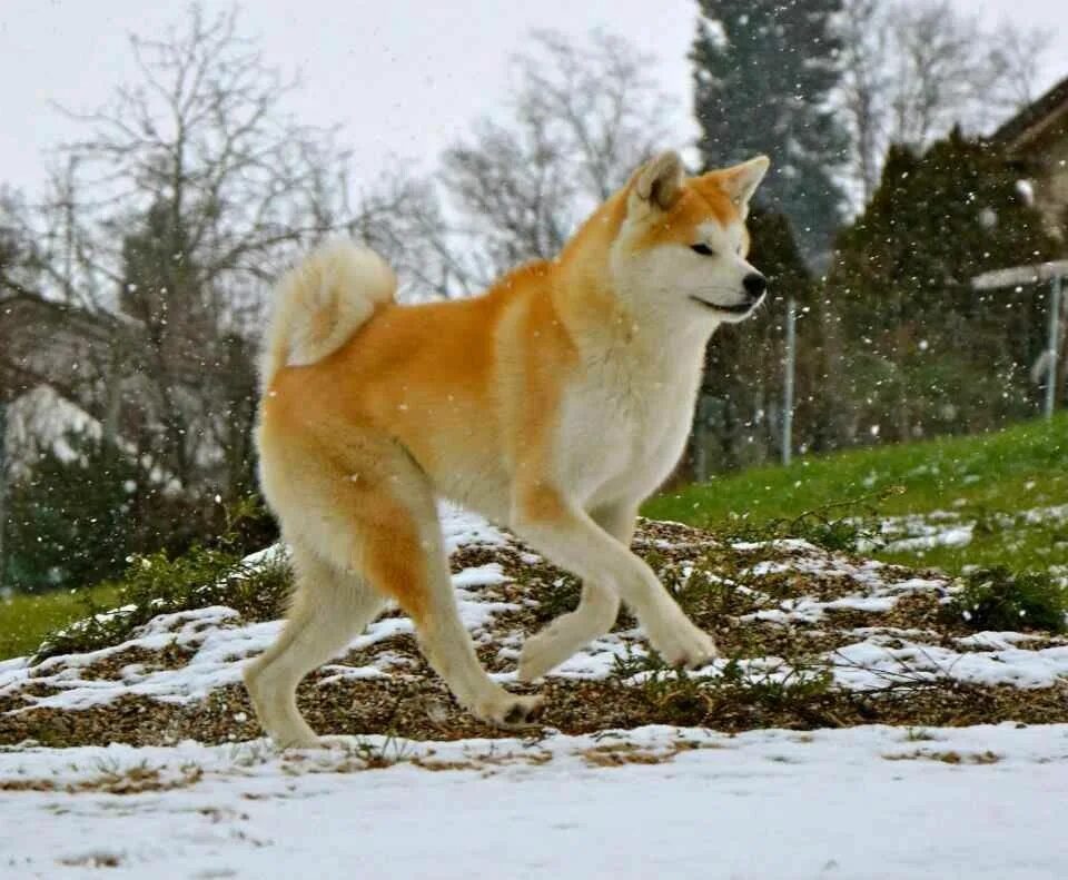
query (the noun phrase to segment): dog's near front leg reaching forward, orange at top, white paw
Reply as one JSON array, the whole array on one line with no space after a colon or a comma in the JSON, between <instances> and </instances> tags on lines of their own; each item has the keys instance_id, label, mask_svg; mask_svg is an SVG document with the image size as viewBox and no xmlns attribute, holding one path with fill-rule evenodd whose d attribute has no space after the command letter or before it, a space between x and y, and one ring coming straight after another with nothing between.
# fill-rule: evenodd
<instances>
[{"instance_id":1,"label":"dog's near front leg reaching forward, orange at top, white paw","mask_svg":"<svg viewBox=\"0 0 1068 880\"><path fill-rule=\"evenodd\" d=\"M611 585L666 663L692 669L715 657L712 637L686 619L653 570L563 493L544 484L517 492L511 525L555 565L586 583Z\"/></svg>"}]
</instances>

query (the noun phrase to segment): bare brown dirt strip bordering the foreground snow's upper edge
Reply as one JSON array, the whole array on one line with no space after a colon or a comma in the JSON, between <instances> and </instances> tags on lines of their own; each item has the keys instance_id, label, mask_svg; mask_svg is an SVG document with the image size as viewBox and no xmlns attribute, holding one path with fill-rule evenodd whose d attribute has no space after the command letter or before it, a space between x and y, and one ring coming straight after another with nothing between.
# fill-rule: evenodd
<instances>
[{"instance_id":1,"label":"bare brown dirt strip bordering the foreground snow's upper edge","mask_svg":"<svg viewBox=\"0 0 1068 880\"><path fill-rule=\"evenodd\" d=\"M759 728L813 730L858 724L963 726L1016 721L1068 723L1068 686L1046 689L917 686L864 693L830 691L780 702L744 689L653 694L619 681L550 680L542 723L568 734L643 724L703 726L726 733ZM337 681L301 686L298 705L322 734L393 734L417 740L494 738L456 704L436 678ZM506 731L505 731L506 733ZM33 709L0 716L0 743L171 745L182 739L220 744L261 735L244 688L190 705L126 696L80 711Z\"/></svg>"}]
</instances>

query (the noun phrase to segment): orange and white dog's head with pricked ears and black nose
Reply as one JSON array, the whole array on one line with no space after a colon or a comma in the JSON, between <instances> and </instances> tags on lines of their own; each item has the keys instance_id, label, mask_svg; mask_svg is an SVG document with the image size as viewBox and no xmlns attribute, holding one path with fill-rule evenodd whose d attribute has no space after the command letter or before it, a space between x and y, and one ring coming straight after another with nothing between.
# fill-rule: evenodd
<instances>
[{"instance_id":1,"label":"orange and white dog's head with pricked ears and black nose","mask_svg":"<svg viewBox=\"0 0 1068 880\"><path fill-rule=\"evenodd\" d=\"M688 178L679 155L664 152L639 168L612 247L620 294L695 322L748 317L767 281L745 259L745 217L768 166L758 156Z\"/></svg>"}]
</instances>

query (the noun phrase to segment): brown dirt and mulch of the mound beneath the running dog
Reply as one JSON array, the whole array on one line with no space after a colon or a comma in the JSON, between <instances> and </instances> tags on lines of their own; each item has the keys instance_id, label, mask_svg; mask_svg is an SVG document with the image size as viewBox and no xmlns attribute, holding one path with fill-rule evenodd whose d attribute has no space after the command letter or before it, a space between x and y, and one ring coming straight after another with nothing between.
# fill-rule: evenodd
<instances>
[{"instance_id":1,"label":"brown dirt and mulch of the mound beneath the running dog","mask_svg":"<svg viewBox=\"0 0 1068 880\"><path fill-rule=\"evenodd\" d=\"M831 685L825 676L827 657L863 637L878 637L879 644L888 647L913 640L923 646L981 650L957 645L956 640L968 631L940 614L948 582L937 573L878 566L791 542L738 548L674 523L641 523L634 548L659 572L698 625L713 633L723 656L734 664L733 678L726 671L719 679L674 678L655 656L647 655L633 619L623 614L614 632L616 644L622 643L626 653L616 656L614 668L602 668L602 678L551 676L538 686L508 685L546 696L541 719L546 728L581 734L654 723L740 732L871 723L919 728L1009 720L1068 722L1065 680L1044 689L970 685L948 675L903 682L891 676L892 686L877 691ZM515 668L515 650L522 639L572 610L580 585L518 544L465 546L452 557L455 572L491 564L500 566L504 582L468 587L468 593L513 607L488 615L488 630L477 633L477 652L491 672L508 672ZM920 585L894 592L896 583L918 574L931 581L929 589ZM824 610L811 619L793 614L802 604L812 607L847 597L878 597L890 606L886 611ZM760 611L772 612L774 619L753 619ZM387 616L397 616L397 612ZM248 621L235 616L221 625L244 623ZM1024 646L1064 643L1047 635ZM238 684L218 688L207 699L188 703L127 693L78 711L32 708L34 700L65 689L121 682L130 666L136 666L139 675L179 669L197 650L192 640L160 650L131 646L91 663L85 657L66 665L62 657L48 661L0 696L0 744L31 740L55 746L109 742L168 745L187 738L227 743L259 736L248 695ZM823 672L819 673L821 663ZM359 678L360 673L354 672L349 676L345 666L374 666L382 674ZM777 678L775 669L794 672ZM812 670L817 670L814 676ZM415 637L406 633L383 637L313 673L300 686L297 701L308 722L323 734L456 740L502 733L455 703L427 666Z\"/></svg>"}]
</instances>

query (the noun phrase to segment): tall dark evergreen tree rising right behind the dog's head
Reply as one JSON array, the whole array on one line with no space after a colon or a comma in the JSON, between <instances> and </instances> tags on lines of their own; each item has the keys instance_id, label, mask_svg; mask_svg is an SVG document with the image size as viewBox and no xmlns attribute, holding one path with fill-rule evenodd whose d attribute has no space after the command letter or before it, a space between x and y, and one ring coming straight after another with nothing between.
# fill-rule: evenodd
<instances>
[{"instance_id":1,"label":"tall dark evergreen tree rising right behind the dog's head","mask_svg":"<svg viewBox=\"0 0 1068 880\"><path fill-rule=\"evenodd\" d=\"M702 162L771 157L758 199L785 214L805 260L822 261L841 217L834 172L848 136L827 106L839 79L841 0L700 0L690 58Z\"/></svg>"}]
</instances>

